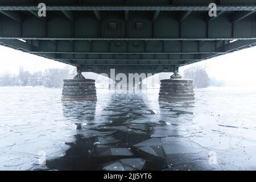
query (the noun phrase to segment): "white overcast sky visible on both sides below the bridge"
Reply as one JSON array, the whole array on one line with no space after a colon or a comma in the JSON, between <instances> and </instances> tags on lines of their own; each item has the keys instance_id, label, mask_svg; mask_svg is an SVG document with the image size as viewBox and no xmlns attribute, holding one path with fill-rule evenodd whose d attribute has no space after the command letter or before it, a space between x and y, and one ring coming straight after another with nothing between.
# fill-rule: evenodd
<instances>
[{"instance_id":1,"label":"white overcast sky visible on both sides below the bridge","mask_svg":"<svg viewBox=\"0 0 256 182\"><path fill-rule=\"evenodd\" d=\"M64 68L66 64L31 55L11 48L0 46L0 74L9 72L15 75L19 72L20 65L30 72L44 71L47 68ZM256 47L243 49L227 55L214 57L196 63L207 68L210 77L223 80L232 85L256 85ZM180 71L185 68L181 67Z\"/></svg>"}]
</instances>

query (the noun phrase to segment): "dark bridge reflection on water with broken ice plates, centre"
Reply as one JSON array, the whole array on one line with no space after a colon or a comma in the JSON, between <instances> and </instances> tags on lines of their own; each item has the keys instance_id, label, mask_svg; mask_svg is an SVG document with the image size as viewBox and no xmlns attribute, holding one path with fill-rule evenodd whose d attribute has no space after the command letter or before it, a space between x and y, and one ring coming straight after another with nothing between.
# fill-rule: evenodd
<instances>
[{"instance_id":1,"label":"dark bridge reflection on water with broken ice plates, centre","mask_svg":"<svg viewBox=\"0 0 256 182\"><path fill-rule=\"evenodd\" d=\"M186 137L194 130L193 102L158 102L148 94L111 93L97 102L63 102L77 126L64 156L47 160L58 170L215 169L208 150Z\"/></svg>"}]
</instances>

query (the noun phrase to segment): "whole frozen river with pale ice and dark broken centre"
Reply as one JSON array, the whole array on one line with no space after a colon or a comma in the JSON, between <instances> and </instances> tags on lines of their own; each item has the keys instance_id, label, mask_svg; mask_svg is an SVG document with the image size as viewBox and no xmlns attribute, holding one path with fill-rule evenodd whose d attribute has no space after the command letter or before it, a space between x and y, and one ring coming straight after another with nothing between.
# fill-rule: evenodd
<instances>
[{"instance_id":1,"label":"whole frozen river with pale ice and dark broken centre","mask_svg":"<svg viewBox=\"0 0 256 182\"><path fill-rule=\"evenodd\" d=\"M256 89L158 92L63 102L61 89L0 88L0 169L256 169Z\"/></svg>"}]
</instances>

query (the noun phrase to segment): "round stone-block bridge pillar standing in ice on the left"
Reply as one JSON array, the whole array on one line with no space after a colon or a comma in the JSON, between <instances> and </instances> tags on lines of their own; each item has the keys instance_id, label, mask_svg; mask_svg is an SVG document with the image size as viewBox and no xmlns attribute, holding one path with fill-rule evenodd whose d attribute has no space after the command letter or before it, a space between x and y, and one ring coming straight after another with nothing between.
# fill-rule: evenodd
<instances>
[{"instance_id":1,"label":"round stone-block bridge pillar standing in ice on the left","mask_svg":"<svg viewBox=\"0 0 256 182\"><path fill-rule=\"evenodd\" d=\"M62 98L63 101L96 101L95 80L84 77L75 77L64 80Z\"/></svg>"}]
</instances>

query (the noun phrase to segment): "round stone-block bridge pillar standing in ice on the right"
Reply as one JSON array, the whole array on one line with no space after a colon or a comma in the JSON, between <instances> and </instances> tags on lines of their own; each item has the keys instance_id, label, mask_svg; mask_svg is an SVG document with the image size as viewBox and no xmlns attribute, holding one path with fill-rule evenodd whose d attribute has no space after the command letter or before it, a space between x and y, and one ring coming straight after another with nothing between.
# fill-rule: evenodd
<instances>
[{"instance_id":1,"label":"round stone-block bridge pillar standing in ice on the right","mask_svg":"<svg viewBox=\"0 0 256 182\"><path fill-rule=\"evenodd\" d=\"M193 101L193 80L167 79L161 80L159 101Z\"/></svg>"}]
</instances>

